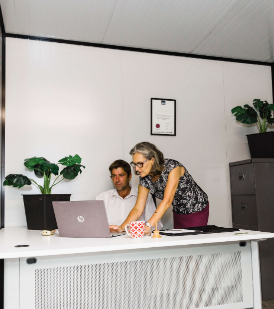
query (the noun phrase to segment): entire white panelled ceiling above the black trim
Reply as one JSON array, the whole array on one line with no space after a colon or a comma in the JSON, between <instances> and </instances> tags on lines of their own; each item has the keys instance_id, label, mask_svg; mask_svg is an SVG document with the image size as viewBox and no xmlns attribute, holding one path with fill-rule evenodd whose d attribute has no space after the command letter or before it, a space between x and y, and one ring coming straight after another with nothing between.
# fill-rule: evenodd
<instances>
[{"instance_id":1,"label":"entire white panelled ceiling above the black trim","mask_svg":"<svg viewBox=\"0 0 274 309\"><path fill-rule=\"evenodd\" d=\"M0 0L6 33L274 62L274 0Z\"/></svg>"}]
</instances>

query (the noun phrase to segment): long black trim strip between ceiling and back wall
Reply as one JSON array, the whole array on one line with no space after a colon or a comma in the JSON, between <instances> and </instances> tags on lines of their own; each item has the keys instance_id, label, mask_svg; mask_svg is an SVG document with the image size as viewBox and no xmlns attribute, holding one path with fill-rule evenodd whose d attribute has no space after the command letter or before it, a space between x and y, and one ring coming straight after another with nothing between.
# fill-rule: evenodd
<instances>
[{"instance_id":1,"label":"long black trim strip between ceiling and back wall","mask_svg":"<svg viewBox=\"0 0 274 309\"><path fill-rule=\"evenodd\" d=\"M81 42L81 41L72 41L72 40L65 40L65 39L56 39L56 38L42 37L42 36L40 37L40 36L32 36L32 35L24 35L24 34L15 34L15 33L6 33L5 36L6 37L26 39L26 40L45 41L45 42L53 42L53 43L63 43L63 44L72 44L72 45L81 45L81 46L90 46L90 47L100 47L100 48L118 49L118 50L128 50L128 51L137 51L137 52L144 52L144 53L158 54L158 55L169 55L169 56L177 56L177 57L188 57L188 58L197 58L197 59L218 60L218 61L228 61L228 62L247 63L247 64L258 64L258 65L267 65L267 66L271 66L272 65L269 62L261 62L261 61L251 61L251 60L243 60L243 59L233 59L233 58L223 58L223 57L194 55L194 54L186 54L186 53L171 52L171 51L164 51L164 50L154 50L154 49L127 47L127 46L117 46L117 45L108 45L108 44L89 43L89 42Z\"/></svg>"}]
</instances>

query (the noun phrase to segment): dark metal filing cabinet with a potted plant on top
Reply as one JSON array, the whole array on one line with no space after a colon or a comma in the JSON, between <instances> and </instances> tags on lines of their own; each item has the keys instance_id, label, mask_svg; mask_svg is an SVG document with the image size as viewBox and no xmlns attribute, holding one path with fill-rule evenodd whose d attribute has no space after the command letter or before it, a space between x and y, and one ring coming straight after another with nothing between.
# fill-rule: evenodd
<instances>
[{"instance_id":1,"label":"dark metal filing cabinet with a potted plant on top","mask_svg":"<svg viewBox=\"0 0 274 309\"><path fill-rule=\"evenodd\" d=\"M229 163L233 227L274 233L274 159ZM274 238L259 243L263 301L274 299Z\"/></svg>"}]
</instances>

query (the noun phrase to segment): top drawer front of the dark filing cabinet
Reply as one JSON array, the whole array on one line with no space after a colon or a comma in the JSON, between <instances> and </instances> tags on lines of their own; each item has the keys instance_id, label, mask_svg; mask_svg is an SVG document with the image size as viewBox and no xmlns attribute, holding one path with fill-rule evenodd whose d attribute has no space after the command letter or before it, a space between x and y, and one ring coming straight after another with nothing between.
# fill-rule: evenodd
<instances>
[{"instance_id":1,"label":"top drawer front of the dark filing cabinet","mask_svg":"<svg viewBox=\"0 0 274 309\"><path fill-rule=\"evenodd\" d=\"M255 194L253 163L230 167L232 195Z\"/></svg>"}]
</instances>

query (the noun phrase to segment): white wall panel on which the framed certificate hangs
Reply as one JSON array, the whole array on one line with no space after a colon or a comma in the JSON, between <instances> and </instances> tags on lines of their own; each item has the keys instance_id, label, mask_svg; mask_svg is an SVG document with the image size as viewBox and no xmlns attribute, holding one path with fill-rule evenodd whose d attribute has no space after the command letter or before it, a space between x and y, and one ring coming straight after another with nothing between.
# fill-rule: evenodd
<instances>
[{"instance_id":1,"label":"white wall panel on which the framed certificate hangs","mask_svg":"<svg viewBox=\"0 0 274 309\"><path fill-rule=\"evenodd\" d=\"M209 223L229 226L223 64L123 52L124 152L155 144L208 194ZM176 99L176 137L150 136L150 98ZM137 180L135 180L137 182Z\"/></svg>"}]
</instances>

